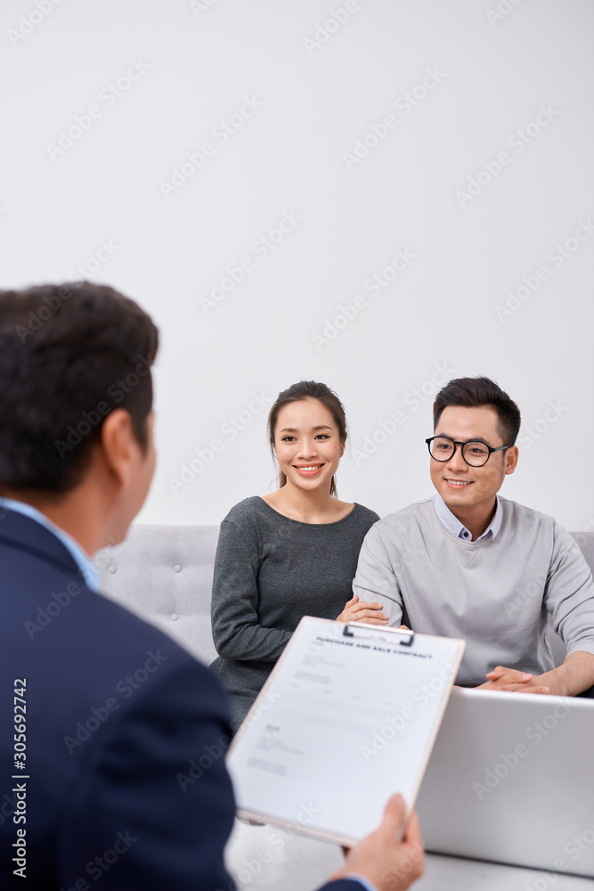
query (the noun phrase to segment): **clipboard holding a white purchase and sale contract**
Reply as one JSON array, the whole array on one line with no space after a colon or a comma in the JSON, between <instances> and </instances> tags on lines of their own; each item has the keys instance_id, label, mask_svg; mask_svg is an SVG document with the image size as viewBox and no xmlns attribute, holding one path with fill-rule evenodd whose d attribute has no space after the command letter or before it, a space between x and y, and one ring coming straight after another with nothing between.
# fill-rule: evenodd
<instances>
[{"instance_id":1,"label":"clipboard holding a white purchase and sale contract","mask_svg":"<svg viewBox=\"0 0 594 891\"><path fill-rule=\"evenodd\" d=\"M352 846L415 799L466 644L305 616L227 753L238 816Z\"/></svg>"}]
</instances>

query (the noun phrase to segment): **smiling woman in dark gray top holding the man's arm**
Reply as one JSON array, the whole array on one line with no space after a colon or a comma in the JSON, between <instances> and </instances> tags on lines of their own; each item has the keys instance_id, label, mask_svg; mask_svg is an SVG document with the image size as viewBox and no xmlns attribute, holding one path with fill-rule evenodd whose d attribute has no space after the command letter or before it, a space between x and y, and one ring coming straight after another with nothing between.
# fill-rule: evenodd
<instances>
[{"instance_id":1,"label":"smiling woman in dark gray top holding the man's arm","mask_svg":"<svg viewBox=\"0 0 594 891\"><path fill-rule=\"evenodd\" d=\"M362 540L378 515L338 501L335 474L346 418L325 384L284 390L268 417L279 488L246 498L223 520L216 549L212 668L226 687L234 729L303 616L383 625L378 603L359 602L352 582Z\"/></svg>"}]
</instances>

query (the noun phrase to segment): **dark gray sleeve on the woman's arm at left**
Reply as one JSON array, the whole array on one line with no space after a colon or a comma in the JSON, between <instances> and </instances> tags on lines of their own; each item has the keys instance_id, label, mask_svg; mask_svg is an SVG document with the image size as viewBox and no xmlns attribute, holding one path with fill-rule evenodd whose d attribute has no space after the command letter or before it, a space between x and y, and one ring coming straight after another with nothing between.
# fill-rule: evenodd
<instances>
[{"instance_id":1,"label":"dark gray sleeve on the woman's arm at left","mask_svg":"<svg viewBox=\"0 0 594 891\"><path fill-rule=\"evenodd\" d=\"M224 519L216 546L212 632L223 658L275 662L291 633L265 628L258 616L259 549L255 527Z\"/></svg>"}]
</instances>

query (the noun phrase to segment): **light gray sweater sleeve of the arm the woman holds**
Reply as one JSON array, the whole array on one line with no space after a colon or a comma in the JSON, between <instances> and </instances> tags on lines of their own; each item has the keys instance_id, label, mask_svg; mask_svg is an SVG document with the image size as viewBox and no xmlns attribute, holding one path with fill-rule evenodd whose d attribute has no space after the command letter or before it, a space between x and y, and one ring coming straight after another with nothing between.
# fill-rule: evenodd
<instances>
[{"instance_id":1,"label":"light gray sweater sleeve of the arm the woman holds","mask_svg":"<svg viewBox=\"0 0 594 891\"><path fill-rule=\"evenodd\" d=\"M403 595L395 567L377 524L370 528L363 539L353 582L353 593L358 594L360 601L381 603L388 617L388 625L401 624Z\"/></svg>"}]
</instances>

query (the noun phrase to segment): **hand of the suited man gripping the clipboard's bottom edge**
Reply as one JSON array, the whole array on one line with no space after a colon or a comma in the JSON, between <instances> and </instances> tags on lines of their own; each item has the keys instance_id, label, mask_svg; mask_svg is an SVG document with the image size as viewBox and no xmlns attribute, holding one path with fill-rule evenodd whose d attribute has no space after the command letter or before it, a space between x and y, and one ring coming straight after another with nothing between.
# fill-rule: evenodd
<instances>
[{"instance_id":1,"label":"hand of the suited man gripping the clipboard's bottom edge","mask_svg":"<svg viewBox=\"0 0 594 891\"><path fill-rule=\"evenodd\" d=\"M384 811L384 819L378 829L362 838L346 854L345 866L332 879L361 876L368 879L378 891L405 891L425 872L425 851L420 834L419 818L411 813L402 841L406 805L402 795L393 795Z\"/></svg>"}]
</instances>

